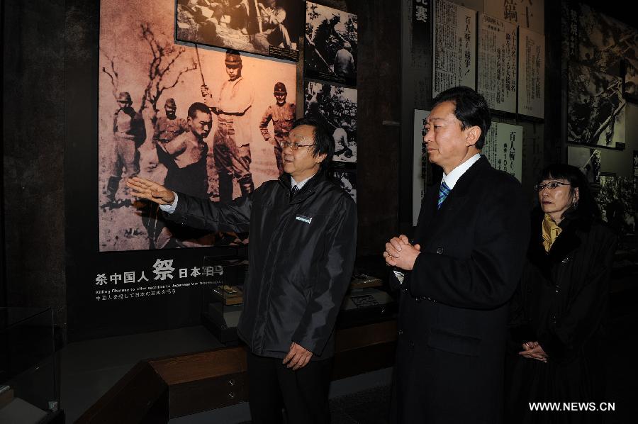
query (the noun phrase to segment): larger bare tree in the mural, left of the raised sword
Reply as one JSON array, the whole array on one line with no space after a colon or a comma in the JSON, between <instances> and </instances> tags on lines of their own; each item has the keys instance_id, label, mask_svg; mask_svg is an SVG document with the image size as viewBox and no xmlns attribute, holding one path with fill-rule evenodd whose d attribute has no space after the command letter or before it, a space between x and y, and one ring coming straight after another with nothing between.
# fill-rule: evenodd
<instances>
[{"instance_id":1,"label":"larger bare tree in the mural, left of the raised sword","mask_svg":"<svg viewBox=\"0 0 638 424\"><path fill-rule=\"evenodd\" d=\"M158 38L150 28L149 23L140 24L141 38L148 44L152 60L148 66L148 82L142 95L142 102L138 112L147 107L147 102L152 106L151 121L157 120L157 102L165 90L172 89L181 81L182 75L197 69L197 62L191 57L191 65L184 67L177 75L171 78L175 63L186 52L183 46L174 45L172 42Z\"/></svg>"}]
</instances>

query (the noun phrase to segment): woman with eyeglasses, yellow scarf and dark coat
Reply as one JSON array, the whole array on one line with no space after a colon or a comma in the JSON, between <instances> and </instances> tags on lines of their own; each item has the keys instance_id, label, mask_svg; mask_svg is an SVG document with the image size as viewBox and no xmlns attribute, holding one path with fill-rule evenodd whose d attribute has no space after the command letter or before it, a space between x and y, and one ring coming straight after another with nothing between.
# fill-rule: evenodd
<instances>
[{"instance_id":1,"label":"woman with eyeglasses, yellow scarf and dark coat","mask_svg":"<svg viewBox=\"0 0 638 424\"><path fill-rule=\"evenodd\" d=\"M535 190L539 204L511 306L505 423L595 423L597 413L532 411L530 403L608 400L603 326L617 238L578 168L549 165Z\"/></svg>"}]
</instances>

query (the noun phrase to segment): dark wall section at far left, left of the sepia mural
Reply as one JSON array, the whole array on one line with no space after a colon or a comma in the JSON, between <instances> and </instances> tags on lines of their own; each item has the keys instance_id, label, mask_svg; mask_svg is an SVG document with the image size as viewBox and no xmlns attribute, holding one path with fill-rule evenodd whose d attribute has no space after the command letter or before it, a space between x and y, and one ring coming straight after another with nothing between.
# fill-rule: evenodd
<instances>
[{"instance_id":1,"label":"dark wall section at far left, left of the sepia mural","mask_svg":"<svg viewBox=\"0 0 638 424\"><path fill-rule=\"evenodd\" d=\"M65 322L65 1L2 3L4 245L11 306Z\"/></svg>"}]
</instances>

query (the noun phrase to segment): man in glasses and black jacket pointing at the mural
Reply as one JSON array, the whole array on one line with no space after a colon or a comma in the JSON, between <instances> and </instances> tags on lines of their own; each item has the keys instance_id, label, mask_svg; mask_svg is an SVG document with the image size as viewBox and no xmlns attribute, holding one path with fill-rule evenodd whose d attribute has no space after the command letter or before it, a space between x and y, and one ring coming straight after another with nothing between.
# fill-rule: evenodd
<instances>
[{"instance_id":1,"label":"man in glasses and black jacket pointing at the mural","mask_svg":"<svg viewBox=\"0 0 638 424\"><path fill-rule=\"evenodd\" d=\"M249 271L237 334L250 348L253 423L328 423L334 327L357 240L354 201L325 174L335 150L317 121L293 124L282 143L284 171L228 203L174 193L147 179L135 196L195 228L250 231Z\"/></svg>"}]
</instances>

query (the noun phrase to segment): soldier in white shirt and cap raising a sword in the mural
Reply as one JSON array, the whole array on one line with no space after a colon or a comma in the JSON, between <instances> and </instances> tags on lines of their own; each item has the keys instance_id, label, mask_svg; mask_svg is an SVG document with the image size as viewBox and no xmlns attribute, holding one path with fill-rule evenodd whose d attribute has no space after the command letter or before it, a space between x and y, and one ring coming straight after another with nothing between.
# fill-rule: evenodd
<instances>
[{"instance_id":1,"label":"soldier in white shirt and cap raising a sword in the mural","mask_svg":"<svg viewBox=\"0 0 638 424\"><path fill-rule=\"evenodd\" d=\"M213 97L208 87L201 87L204 101L218 117L213 135L213 158L219 176L220 201L233 200L233 179L242 196L254 191L250 174L250 119L254 90L242 77L242 57L237 50L228 50L225 57L228 80L219 95Z\"/></svg>"}]
</instances>

